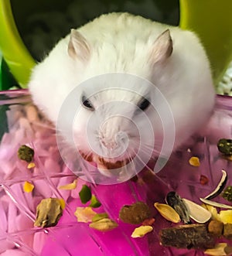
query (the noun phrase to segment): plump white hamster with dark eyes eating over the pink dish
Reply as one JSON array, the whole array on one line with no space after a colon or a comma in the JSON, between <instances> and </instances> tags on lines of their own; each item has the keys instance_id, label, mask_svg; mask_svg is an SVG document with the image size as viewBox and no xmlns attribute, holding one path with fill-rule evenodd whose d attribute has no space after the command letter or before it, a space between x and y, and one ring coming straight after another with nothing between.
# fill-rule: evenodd
<instances>
[{"instance_id":1,"label":"plump white hamster with dark eyes eating over the pink dish","mask_svg":"<svg viewBox=\"0 0 232 256\"><path fill-rule=\"evenodd\" d=\"M128 13L72 29L32 70L29 91L54 124L62 119L67 143L73 125L77 152L108 170L137 155L148 162L167 133L173 145L162 153L175 150L210 117L215 99L209 60L193 32Z\"/></svg>"}]
</instances>

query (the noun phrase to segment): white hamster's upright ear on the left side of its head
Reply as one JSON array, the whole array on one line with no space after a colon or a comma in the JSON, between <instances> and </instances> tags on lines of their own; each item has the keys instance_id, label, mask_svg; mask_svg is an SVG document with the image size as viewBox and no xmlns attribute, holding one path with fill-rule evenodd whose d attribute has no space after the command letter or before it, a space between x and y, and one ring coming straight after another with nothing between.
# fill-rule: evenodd
<instances>
[{"instance_id":1,"label":"white hamster's upright ear on the left side of its head","mask_svg":"<svg viewBox=\"0 0 232 256\"><path fill-rule=\"evenodd\" d=\"M86 61L90 57L90 47L87 40L76 29L71 29L68 53L71 58L77 60Z\"/></svg>"}]
</instances>

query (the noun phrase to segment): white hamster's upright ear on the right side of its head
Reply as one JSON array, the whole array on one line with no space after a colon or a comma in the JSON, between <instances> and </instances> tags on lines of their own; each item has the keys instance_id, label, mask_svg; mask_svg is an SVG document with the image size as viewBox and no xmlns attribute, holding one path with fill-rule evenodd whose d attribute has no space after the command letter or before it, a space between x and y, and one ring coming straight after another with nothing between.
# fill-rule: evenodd
<instances>
[{"instance_id":1,"label":"white hamster's upright ear on the right side of its head","mask_svg":"<svg viewBox=\"0 0 232 256\"><path fill-rule=\"evenodd\" d=\"M150 56L153 64L163 62L172 55L172 37L169 29L162 32L152 46L152 54Z\"/></svg>"}]
</instances>

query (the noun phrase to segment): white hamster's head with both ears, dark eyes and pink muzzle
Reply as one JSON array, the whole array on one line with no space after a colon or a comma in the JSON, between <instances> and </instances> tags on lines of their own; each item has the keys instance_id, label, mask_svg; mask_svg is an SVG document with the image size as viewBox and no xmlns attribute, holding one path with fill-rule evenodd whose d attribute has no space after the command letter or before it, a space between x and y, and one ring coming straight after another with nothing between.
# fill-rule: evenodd
<instances>
[{"instance_id":1,"label":"white hamster's head with both ears, dark eyes and pink muzzle","mask_svg":"<svg viewBox=\"0 0 232 256\"><path fill-rule=\"evenodd\" d=\"M148 77L152 65L164 63L172 54L169 30L155 40L152 50L153 59L147 59L153 61L152 64L139 54L140 62L128 57L123 60L119 49L119 60L104 60L104 63L101 60L104 52L99 49L93 53L79 32L71 32L68 53L73 60L86 62L88 67L83 72L84 82L71 94L78 95L80 103L79 108L75 108L73 141L82 157L97 162L103 173L115 172L131 163L134 168L143 166L161 148L162 142L155 143L155 135L162 138L162 124L155 110L157 91L142 77ZM114 50L109 59L112 56L115 57Z\"/></svg>"}]
</instances>

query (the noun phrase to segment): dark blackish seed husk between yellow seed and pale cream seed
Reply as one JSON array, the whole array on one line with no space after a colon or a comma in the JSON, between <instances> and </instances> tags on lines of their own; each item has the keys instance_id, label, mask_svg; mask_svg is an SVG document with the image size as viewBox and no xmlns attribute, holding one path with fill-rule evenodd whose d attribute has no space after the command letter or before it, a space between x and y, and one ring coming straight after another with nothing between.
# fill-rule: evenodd
<instances>
[{"instance_id":1,"label":"dark blackish seed husk between yellow seed and pale cream seed","mask_svg":"<svg viewBox=\"0 0 232 256\"><path fill-rule=\"evenodd\" d=\"M183 220L185 224L190 223L189 211L185 203L183 203L182 198L175 191L169 192L165 198L165 201L170 207L176 210L176 213L179 214L180 219Z\"/></svg>"}]
</instances>

